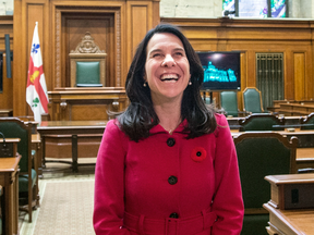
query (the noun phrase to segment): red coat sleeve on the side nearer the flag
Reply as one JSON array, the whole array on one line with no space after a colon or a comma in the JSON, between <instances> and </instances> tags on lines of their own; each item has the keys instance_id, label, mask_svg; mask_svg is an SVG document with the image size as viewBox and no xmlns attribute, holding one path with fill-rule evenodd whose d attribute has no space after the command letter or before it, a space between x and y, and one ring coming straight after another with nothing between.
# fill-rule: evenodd
<instances>
[{"instance_id":1,"label":"red coat sleeve on the side nearer the flag","mask_svg":"<svg viewBox=\"0 0 314 235\"><path fill-rule=\"evenodd\" d=\"M109 121L98 150L95 169L94 230L97 235L129 235L124 214L124 134Z\"/></svg>"}]
</instances>

